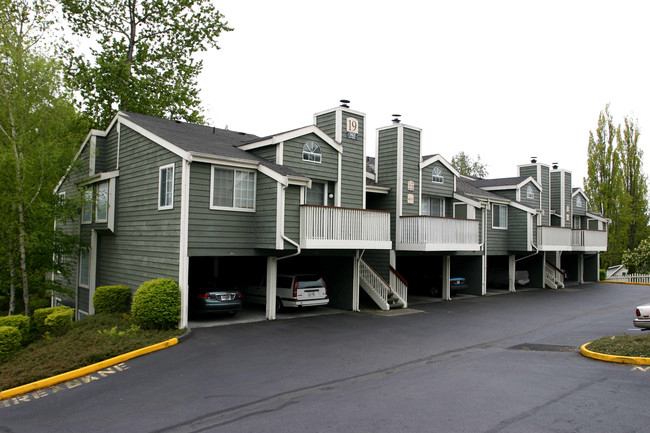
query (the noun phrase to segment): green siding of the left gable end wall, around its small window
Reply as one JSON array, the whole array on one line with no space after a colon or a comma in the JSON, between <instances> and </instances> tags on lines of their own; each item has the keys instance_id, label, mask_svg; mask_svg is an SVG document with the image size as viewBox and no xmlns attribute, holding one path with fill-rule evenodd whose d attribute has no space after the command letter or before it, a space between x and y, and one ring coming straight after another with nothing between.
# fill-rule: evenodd
<instances>
[{"instance_id":1,"label":"green siding of the left gable end wall, around its small window","mask_svg":"<svg viewBox=\"0 0 650 433\"><path fill-rule=\"evenodd\" d=\"M98 232L97 286L136 290L153 278L178 281L181 159L122 127L115 233ZM107 159L110 160L110 159ZM174 208L158 210L158 169L174 164Z\"/></svg>"}]
</instances>

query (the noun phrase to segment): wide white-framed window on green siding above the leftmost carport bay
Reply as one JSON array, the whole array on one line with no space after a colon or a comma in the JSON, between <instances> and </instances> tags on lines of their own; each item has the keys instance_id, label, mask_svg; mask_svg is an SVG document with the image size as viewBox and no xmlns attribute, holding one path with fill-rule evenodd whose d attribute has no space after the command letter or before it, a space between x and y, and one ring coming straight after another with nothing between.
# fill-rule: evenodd
<instances>
[{"instance_id":1,"label":"wide white-framed window on green siding above the leftmost carport bay","mask_svg":"<svg viewBox=\"0 0 650 433\"><path fill-rule=\"evenodd\" d=\"M255 172L212 167L211 209L255 210Z\"/></svg>"}]
</instances>

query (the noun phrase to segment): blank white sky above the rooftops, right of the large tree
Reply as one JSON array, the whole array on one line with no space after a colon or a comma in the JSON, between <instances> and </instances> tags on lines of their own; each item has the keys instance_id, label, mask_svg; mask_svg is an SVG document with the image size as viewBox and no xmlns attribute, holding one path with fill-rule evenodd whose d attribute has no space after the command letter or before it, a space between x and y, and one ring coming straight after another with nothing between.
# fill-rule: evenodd
<instances>
[{"instance_id":1,"label":"blank white sky above the rooftops, right of the large tree","mask_svg":"<svg viewBox=\"0 0 650 433\"><path fill-rule=\"evenodd\" d=\"M202 56L214 126L265 136L349 99L370 155L399 113L423 154L480 155L493 178L537 156L582 186L610 103L616 124L638 119L649 153L650 2L213 1L235 29Z\"/></svg>"}]
</instances>

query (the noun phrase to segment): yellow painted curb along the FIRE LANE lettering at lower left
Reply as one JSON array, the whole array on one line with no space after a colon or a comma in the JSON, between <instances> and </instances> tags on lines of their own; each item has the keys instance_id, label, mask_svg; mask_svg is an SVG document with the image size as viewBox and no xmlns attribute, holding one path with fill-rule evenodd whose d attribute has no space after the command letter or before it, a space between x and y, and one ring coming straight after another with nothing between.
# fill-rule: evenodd
<instances>
[{"instance_id":1,"label":"yellow painted curb along the FIRE LANE lettering at lower left","mask_svg":"<svg viewBox=\"0 0 650 433\"><path fill-rule=\"evenodd\" d=\"M0 400L6 400L8 398L26 394L37 389L48 388L50 386L56 385L57 383L65 382L67 380L77 379L87 374L94 373L98 370L119 364L120 362L128 361L129 359L146 355L147 353L156 352L158 350L174 346L175 344L178 344L178 338L171 338L167 341L163 341L162 343L153 344L151 346L143 347L142 349L133 350L131 352L124 353L122 355L118 355L113 358L97 362L95 364L68 371L67 373L61 373L56 376L48 377L47 379L41 379L36 382L18 386L16 388L6 389L4 391L0 391Z\"/></svg>"}]
</instances>

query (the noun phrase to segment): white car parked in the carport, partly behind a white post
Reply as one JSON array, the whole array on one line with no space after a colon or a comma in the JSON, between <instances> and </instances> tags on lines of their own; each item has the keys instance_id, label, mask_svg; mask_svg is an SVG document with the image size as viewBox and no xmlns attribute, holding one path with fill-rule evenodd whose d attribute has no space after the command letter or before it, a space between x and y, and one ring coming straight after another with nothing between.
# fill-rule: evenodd
<instances>
[{"instance_id":1,"label":"white car parked in the carport, partly behind a white post","mask_svg":"<svg viewBox=\"0 0 650 433\"><path fill-rule=\"evenodd\" d=\"M258 285L246 287L244 301L266 305L266 279L263 279ZM315 307L328 303L327 286L320 275L278 275L275 303L277 311L285 307Z\"/></svg>"}]
</instances>

